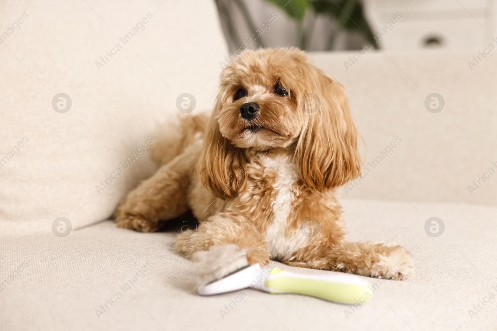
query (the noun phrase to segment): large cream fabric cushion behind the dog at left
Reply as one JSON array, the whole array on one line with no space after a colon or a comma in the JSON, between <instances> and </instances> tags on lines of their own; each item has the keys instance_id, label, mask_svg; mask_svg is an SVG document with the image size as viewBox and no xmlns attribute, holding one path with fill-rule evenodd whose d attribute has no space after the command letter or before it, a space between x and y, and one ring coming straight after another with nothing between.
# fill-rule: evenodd
<instances>
[{"instance_id":1,"label":"large cream fabric cushion behind the dog at left","mask_svg":"<svg viewBox=\"0 0 497 331\"><path fill-rule=\"evenodd\" d=\"M142 144L171 130L177 98L211 108L227 54L209 1L35 3L0 3L3 233L109 217L154 173Z\"/></svg>"}]
</instances>

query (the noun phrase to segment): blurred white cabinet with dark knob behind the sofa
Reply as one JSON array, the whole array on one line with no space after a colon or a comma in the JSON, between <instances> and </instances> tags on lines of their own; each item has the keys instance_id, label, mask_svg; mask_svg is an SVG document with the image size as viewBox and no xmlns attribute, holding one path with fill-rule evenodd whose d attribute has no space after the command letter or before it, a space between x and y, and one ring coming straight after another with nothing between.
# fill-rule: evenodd
<instances>
[{"instance_id":1,"label":"blurred white cabinet with dark knob behind the sofa","mask_svg":"<svg viewBox=\"0 0 497 331\"><path fill-rule=\"evenodd\" d=\"M481 48L497 37L497 0L363 0L382 49ZM395 24L385 25L400 13ZM383 28L383 29L382 29ZM385 32L382 34L382 32Z\"/></svg>"}]
</instances>

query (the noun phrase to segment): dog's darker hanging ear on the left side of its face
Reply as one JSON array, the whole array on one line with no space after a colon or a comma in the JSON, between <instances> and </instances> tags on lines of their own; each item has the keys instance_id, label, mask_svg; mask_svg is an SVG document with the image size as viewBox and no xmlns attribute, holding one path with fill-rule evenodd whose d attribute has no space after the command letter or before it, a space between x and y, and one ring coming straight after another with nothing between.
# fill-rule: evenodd
<instances>
[{"instance_id":1,"label":"dog's darker hanging ear on the left side of its face","mask_svg":"<svg viewBox=\"0 0 497 331\"><path fill-rule=\"evenodd\" d=\"M220 104L216 105L216 110ZM215 113L206 128L198 163L198 175L203 185L222 199L234 197L247 186L247 159L242 150L221 135Z\"/></svg>"}]
</instances>

